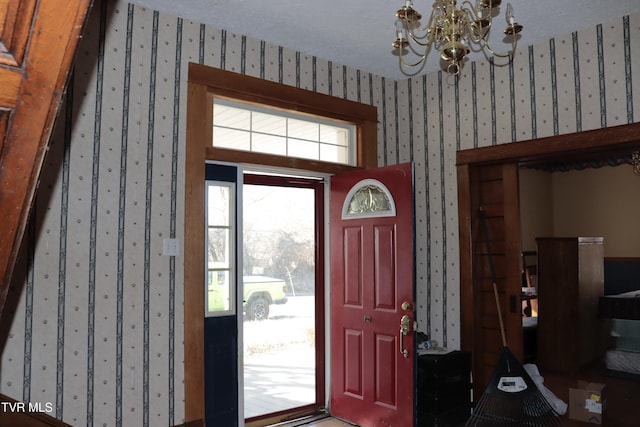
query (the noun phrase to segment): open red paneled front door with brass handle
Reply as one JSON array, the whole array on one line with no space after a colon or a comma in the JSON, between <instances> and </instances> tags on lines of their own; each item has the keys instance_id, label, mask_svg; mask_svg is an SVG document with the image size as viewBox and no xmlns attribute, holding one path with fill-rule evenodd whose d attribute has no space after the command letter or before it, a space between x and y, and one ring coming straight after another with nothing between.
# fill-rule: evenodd
<instances>
[{"instance_id":1,"label":"open red paneled front door with brass handle","mask_svg":"<svg viewBox=\"0 0 640 427\"><path fill-rule=\"evenodd\" d=\"M336 417L362 427L414 425L413 259L412 165L332 177Z\"/></svg>"}]
</instances>

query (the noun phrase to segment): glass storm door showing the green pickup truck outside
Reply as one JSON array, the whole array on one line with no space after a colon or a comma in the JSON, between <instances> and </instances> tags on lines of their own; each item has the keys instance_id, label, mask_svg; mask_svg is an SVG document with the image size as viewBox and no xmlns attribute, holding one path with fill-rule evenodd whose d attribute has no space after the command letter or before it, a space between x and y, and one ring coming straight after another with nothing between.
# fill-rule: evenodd
<instances>
[{"instance_id":1,"label":"glass storm door showing the green pickup truck outside","mask_svg":"<svg viewBox=\"0 0 640 427\"><path fill-rule=\"evenodd\" d=\"M324 407L320 180L245 174L244 416Z\"/></svg>"}]
</instances>

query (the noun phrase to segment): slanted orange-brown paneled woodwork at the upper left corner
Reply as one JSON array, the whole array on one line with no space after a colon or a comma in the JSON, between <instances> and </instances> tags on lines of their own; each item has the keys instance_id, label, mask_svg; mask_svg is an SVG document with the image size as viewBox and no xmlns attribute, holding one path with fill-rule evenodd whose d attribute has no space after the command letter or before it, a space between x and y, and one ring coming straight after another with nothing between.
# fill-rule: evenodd
<instances>
[{"instance_id":1,"label":"slanted orange-brown paneled woodwork at the upper left corner","mask_svg":"<svg viewBox=\"0 0 640 427\"><path fill-rule=\"evenodd\" d=\"M0 0L0 314L91 0Z\"/></svg>"}]
</instances>

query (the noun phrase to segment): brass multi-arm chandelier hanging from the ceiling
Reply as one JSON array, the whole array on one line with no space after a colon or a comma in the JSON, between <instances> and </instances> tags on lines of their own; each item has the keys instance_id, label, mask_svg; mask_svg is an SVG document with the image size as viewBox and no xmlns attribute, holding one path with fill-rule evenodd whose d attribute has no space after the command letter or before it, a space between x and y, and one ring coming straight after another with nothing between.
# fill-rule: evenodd
<instances>
[{"instance_id":1,"label":"brass multi-arm chandelier hanging from the ceiling","mask_svg":"<svg viewBox=\"0 0 640 427\"><path fill-rule=\"evenodd\" d=\"M497 53L489 45L488 39L491 22L499 13L501 0L477 0L475 6L465 0L460 8L456 3L456 0L436 0L425 26L421 26L422 15L413 8L412 0L406 0L404 6L398 9L396 40L392 45L400 58L400 70L404 74L417 74L434 45L440 51L447 72L454 76L460 73L463 61L471 51L482 51L485 57L490 53L494 57L507 58L506 63L511 61L518 44L517 34L522 31L522 25L515 22L511 4L507 4L507 27L504 30L511 41L511 49L506 53ZM407 55L417 59L414 62L407 61ZM407 71L409 67L416 66L420 68L415 72Z\"/></svg>"}]
</instances>

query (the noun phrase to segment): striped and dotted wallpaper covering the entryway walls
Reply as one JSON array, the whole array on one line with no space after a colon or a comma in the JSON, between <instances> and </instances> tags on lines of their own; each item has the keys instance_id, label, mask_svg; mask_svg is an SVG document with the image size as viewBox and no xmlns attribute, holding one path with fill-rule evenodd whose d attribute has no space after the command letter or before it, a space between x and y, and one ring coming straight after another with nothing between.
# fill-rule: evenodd
<instances>
[{"instance_id":1,"label":"striped and dotted wallpaper covering the entryway walls","mask_svg":"<svg viewBox=\"0 0 640 427\"><path fill-rule=\"evenodd\" d=\"M639 121L638 40L640 16L625 16L521 47L508 66L394 81L96 2L0 328L0 392L71 425L184 421L184 254L162 242L184 236L189 62L378 108L378 163L415 163L419 329L456 349L456 151Z\"/></svg>"}]
</instances>

